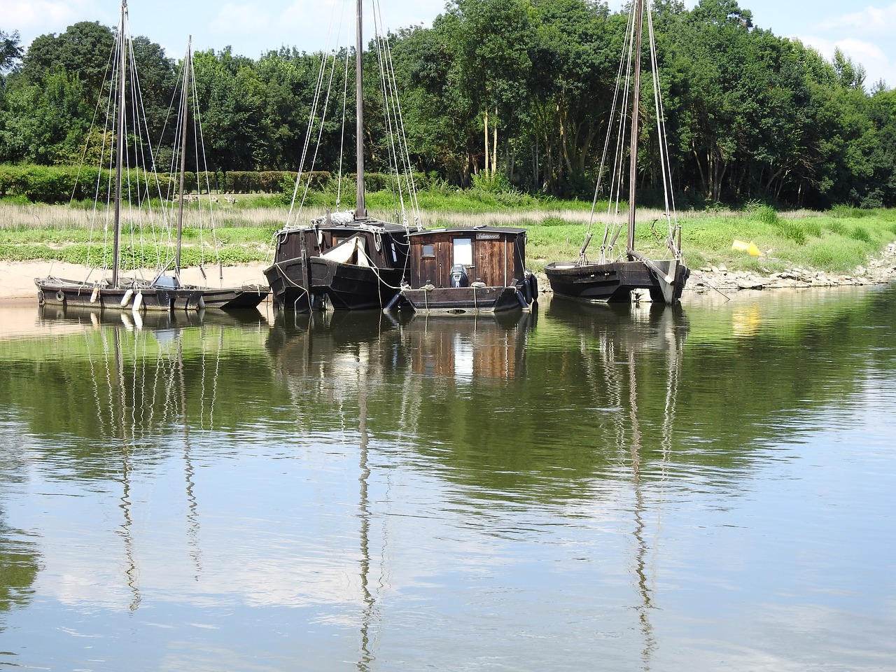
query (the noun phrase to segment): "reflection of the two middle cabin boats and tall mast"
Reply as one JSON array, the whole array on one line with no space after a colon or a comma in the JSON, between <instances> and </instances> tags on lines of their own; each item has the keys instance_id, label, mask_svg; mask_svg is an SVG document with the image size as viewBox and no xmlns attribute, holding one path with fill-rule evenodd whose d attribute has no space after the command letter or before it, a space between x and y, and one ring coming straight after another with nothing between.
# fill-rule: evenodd
<instances>
[{"instance_id":1,"label":"reflection of the two middle cabin boats and tall mast","mask_svg":"<svg viewBox=\"0 0 896 672\"><path fill-rule=\"evenodd\" d=\"M461 320L426 314L394 319L380 311L277 315L266 349L275 379L288 391L293 431L303 436L336 433L340 452L358 451L357 461L346 464L357 465L359 472L359 669L374 659L380 594L388 588L388 572L377 556L396 552L387 551L393 539L386 528L390 517L382 514L383 493L376 489L387 478L376 469L384 444L409 441L418 426L427 424L425 414L434 407L425 386L469 390L474 379L523 378L525 345L535 318L529 312ZM444 406L435 409L444 415Z\"/></svg>"}]
</instances>

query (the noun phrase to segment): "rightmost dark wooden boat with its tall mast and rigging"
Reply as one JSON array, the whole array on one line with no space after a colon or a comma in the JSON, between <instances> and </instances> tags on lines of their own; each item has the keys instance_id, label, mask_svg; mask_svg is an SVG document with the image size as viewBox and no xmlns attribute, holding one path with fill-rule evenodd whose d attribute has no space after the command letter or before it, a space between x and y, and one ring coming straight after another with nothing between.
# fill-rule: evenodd
<instances>
[{"instance_id":1,"label":"rightmost dark wooden boat with its tall mast and rigging","mask_svg":"<svg viewBox=\"0 0 896 672\"><path fill-rule=\"evenodd\" d=\"M628 302L633 298L636 290L647 290L654 302L665 302L673 305L681 298L685 283L691 274L685 266L681 252L681 227L674 218L674 202L672 190L669 185L671 175L668 164L668 152L666 151L666 131L663 125L662 107L659 98L659 80L657 77L656 50L653 48L653 23L650 9L646 12L650 36L650 54L653 73L654 99L658 102L656 110L658 125L658 139L660 146L660 159L662 164L664 193L666 194L665 219L668 222L668 235L665 244L668 247L668 258L650 259L645 254L635 249L635 203L637 190L637 156L639 117L641 116L641 52L642 52L642 26L645 15L644 0L637 0L632 4L629 17L629 30L625 43L625 54L620 65L620 73L632 73L632 81L620 76L617 83L616 98L621 100L620 90L631 95L629 104L615 105L615 121L609 125L607 143L604 149L604 160L599 174L603 173L603 166L607 162L609 148L621 145L617 142L625 137L625 124L631 120L631 134L629 143L629 171L628 171L628 220L625 251L615 254L614 247L620 236L623 225L615 220L619 208L619 194L621 193L621 176L616 171L610 185L610 211L607 214L607 226L605 228L603 243L600 247L599 259L596 262L589 261L585 251L591 240L590 222L586 230L585 239L579 252L579 258L569 262L552 262L545 265L545 274L557 297L569 297L587 301L611 301ZM625 84L625 86L623 86ZM621 158L614 159L613 165L621 165ZM595 192L595 203L597 191ZM594 208L592 207L592 216Z\"/></svg>"}]
</instances>

